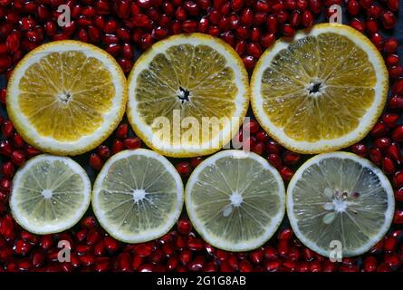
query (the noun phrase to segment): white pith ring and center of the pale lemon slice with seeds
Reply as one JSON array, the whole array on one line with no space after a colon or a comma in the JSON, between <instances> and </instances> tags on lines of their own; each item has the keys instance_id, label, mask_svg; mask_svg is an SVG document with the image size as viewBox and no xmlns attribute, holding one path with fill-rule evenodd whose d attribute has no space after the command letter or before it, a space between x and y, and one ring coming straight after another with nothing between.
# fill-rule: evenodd
<instances>
[{"instance_id":1,"label":"white pith ring and center of the pale lemon slice with seeds","mask_svg":"<svg viewBox=\"0 0 403 290\"><path fill-rule=\"evenodd\" d=\"M322 247L318 247L316 243L314 243L312 240L308 239L305 237L302 232L300 231L298 227L298 218L294 215L293 212L293 190L294 187L299 179L302 178L302 174L306 169L309 169L313 164L318 164L321 162L321 160L328 159L328 158L340 158L340 159L350 159L355 162L360 163L360 165L364 168L370 169L375 175L378 176L383 189L388 194L388 209L385 211L385 222L380 227L378 235L371 237L369 241L365 244L363 244L361 247L356 248L354 251L349 251L344 253L343 256L359 256L369 250L369 248L374 247L379 240L385 236L385 234L388 232L389 227L392 223L393 219L393 214L394 214L394 209L395 209L395 198L394 198L394 193L393 189L390 185L389 179L383 174L383 172L374 166L369 160L363 159L355 154L352 154L350 152L332 152L332 153L323 153L320 155L317 155L313 157L310 160L307 160L305 163L302 164L302 166L295 172L293 179L291 179L288 188L287 188L287 216L290 221L290 224L293 228L293 231L295 235L298 237L299 240L301 240L302 244L304 244L306 247L311 248L313 251L319 253L321 256L329 256L330 255L330 249L324 249ZM340 206L341 208L335 208L335 206ZM333 208L325 208L326 210L329 210L331 213L331 210L335 210L336 212L339 210L339 212L342 212L345 210L343 208L344 206L348 207L349 205L347 203L345 204L337 204L334 203L332 204Z\"/></svg>"}]
</instances>

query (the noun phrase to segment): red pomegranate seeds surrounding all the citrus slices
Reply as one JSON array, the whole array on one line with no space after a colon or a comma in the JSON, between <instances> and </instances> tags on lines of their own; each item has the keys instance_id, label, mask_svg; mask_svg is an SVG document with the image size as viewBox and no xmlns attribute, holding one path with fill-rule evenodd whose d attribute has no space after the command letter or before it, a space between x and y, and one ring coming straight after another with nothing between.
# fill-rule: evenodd
<instances>
[{"instance_id":1,"label":"red pomegranate seeds surrounding all the citrus slices","mask_svg":"<svg viewBox=\"0 0 403 290\"><path fill-rule=\"evenodd\" d=\"M59 27L59 5L69 5L72 22ZM8 208L14 172L25 160L41 152L26 144L13 124L0 117L0 271L398 271L403 262L403 69L398 42L380 31L397 23L398 0L0 0L0 77L10 76L24 54L44 41L78 39L94 43L113 55L129 73L139 53L171 34L201 32L222 38L235 48L252 71L264 49L280 36L293 36L311 26L320 14L331 17L331 5L345 5L349 24L367 34L385 58L392 89L386 111L369 136L350 150L376 163L395 188L397 210L392 229L369 253L331 263L302 246L289 226L264 247L249 253L229 253L207 245L186 218L158 240L126 245L109 237L89 216L61 234L35 236L19 227ZM6 88L0 88L5 103ZM263 155L288 181L302 164L302 156L284 149L267 136L256 121L247 124L244 140ZM242 140L242 134L239 134ZM108 144L88 157L94 170L120 150L141 147L127 123L122 123ZM187 176L202 158L173 160ZM71 262L57 260L59 241L71 246Z\"/></svg>"}]
</instances>

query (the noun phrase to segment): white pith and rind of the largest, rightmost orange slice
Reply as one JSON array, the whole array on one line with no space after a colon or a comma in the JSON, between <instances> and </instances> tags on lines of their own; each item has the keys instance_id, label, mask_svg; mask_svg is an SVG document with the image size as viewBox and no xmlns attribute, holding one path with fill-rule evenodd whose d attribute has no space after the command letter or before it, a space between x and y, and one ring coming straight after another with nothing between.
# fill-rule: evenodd
<instances>
[{"instance_id":1,"label":"white pith and rind of the largest, rightmost orange slice","mask_svg":"<svg viewBox=\"0 0 403 290\"><path fill-rule=\"evenodd\" d=\"M318 140L315 142L294 140L285 134L283 128L276 127L272 121L270 121L267 114L264 112L264 99L261 96L262 76L264 70L272 62L273 57L281 50L288 47L289 42L285 40L276 41L269 50L259 59L255 66L254 73L251 80L251 96L252 106L254 114L259 120L265 131L277 141L283 144L290 150L299 151L302 153L321 153L323 151L339 150L343 147L349 146L351 142L358 141L364 138L365 134L369 131L370 127L377 120L378 115L386 100L386 88L388 87L388 74L383 59L375 48L375 46L369 42L369 40L346 25L341 24L319 24L313 26L308 33L300 31L295 34L293 41L297 41L306 36L317 36L322 33L337 33L346 36L353 43L356 43L365 53L368 54L369 62L372 63L375 68L377 84L374 88L375 98L369 110L362 116L359 126L350 131L348 134L331 140ZM318 94L319 95L319 94ZM314 97L317 97L315 95Z\"/></svg>"}]
</instances>

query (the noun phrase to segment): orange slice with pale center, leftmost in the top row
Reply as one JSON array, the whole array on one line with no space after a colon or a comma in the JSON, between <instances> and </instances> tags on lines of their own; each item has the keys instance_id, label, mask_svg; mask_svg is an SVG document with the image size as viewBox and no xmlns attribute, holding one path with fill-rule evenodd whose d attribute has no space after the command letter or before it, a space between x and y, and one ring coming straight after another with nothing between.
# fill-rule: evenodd
<instances>
[{"instance_id":1,"label":"orange slice with pale center, leftmost in the top row","mask_svg":"<svg viewBox=\"0 0 403 290\"><path fill-rule=\"evenodd\" d=\"M57 155L97 147L116 128L127 102L120 66L77 41L43 44L18 63L7 87L7 112L24 140Z\"/></svg>"}]
</instances>

